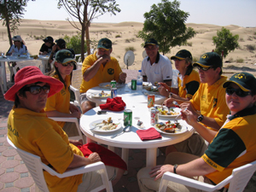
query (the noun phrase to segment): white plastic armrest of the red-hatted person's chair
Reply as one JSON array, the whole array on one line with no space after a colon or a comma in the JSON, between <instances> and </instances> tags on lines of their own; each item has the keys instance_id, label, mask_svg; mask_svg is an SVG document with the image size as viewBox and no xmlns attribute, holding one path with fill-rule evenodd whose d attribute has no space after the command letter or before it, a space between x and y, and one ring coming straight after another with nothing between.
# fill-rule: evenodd
<instances>
[{"instance_id":1,"label":"white plastic armrest of the red-hatted person's chair","mask_svg":"<svg viewBox=\"0 0 256 192\"><path fill-rule=\"evenodd\" d=\"M102 169L106 171L106 166L102 163L102 161L96 162L87 166L80 166L78 168L70 169L70 170L67 170L66 172L63 172L62 174L55 172L55 170L53 170L49 166L46 166L44 163L42 163L42 166L44 167L45 171L49 172L50 175L56 176L59 178L70 177L73 175L83 174L84 172L93 172L93 171L102 170Z\"/></svg>"}]
</instances>

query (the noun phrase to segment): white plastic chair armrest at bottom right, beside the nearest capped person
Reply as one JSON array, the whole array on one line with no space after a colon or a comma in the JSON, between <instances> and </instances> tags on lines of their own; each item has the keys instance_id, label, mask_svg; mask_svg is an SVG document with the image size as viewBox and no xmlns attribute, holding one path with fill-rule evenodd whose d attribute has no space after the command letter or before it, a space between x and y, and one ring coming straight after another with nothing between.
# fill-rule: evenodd
<instances>
[{"instance_id":1,"label":"white plastic chair armrest at bottom right, beside the nearest capped person","mask_svg":"<svg viewBox=\"0 0 256 192\"><path fill-rule=\"evenodd\" d=\"M231 179L231 176L224 179L224 181L222 181L221 183L218 183L218 185L212 185L209 183L202 183L193 178L183 177L181 175L178 175L172 172L166 172L161 178L159 192L166 191L168 181L180 183L180 184L189 186L191 188L201 189L204 191L214 191L216 189L222 189L227 183L230 183L230 179Z\"/></svg>"}]
</instances>

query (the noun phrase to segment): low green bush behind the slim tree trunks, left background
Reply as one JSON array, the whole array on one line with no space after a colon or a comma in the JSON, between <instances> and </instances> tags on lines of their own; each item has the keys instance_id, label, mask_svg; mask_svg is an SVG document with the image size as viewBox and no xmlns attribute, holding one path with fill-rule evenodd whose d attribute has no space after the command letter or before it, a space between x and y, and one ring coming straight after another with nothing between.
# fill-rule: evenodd
<instances>
[{"instance_id":1,"label":"low green bush behind the slim tree trunks, left background","mask_svg":"<svg viewBox=\"0 0 256 192\"><path fill-rule=\"evenodd\" d=\"M66 41L67 49L72 48L75 54L79 54L81 51L82 43L81 43L81 34L72 36L71 38L65 35L64 40ZM84 49L86 49L86 44L84 44Z\"/></svg>"}]
</instances>

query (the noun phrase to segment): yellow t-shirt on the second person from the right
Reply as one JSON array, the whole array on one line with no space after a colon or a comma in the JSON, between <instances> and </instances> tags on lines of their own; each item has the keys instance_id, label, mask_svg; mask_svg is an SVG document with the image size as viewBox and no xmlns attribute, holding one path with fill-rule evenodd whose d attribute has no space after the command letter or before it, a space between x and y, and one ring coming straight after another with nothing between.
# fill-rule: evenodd
<instances>
[{"instance_id":1,"label":"yellow t-shirt on the second person from the right","mask_svg":"<svg viewBox=\"0 0 256 192\"><path fill-rule=\"evenodd\" d=\"M225 100L225 89L222 87L226 79L226 77L221 76L218 81L210 86L200 84L199 89L190 100L196 110L201 111L201 114L206 117L214 118L219 126L224 124L227 114L230 113ZM214 130L208 126L207 128Z\"/></svg>"}]
</instances>

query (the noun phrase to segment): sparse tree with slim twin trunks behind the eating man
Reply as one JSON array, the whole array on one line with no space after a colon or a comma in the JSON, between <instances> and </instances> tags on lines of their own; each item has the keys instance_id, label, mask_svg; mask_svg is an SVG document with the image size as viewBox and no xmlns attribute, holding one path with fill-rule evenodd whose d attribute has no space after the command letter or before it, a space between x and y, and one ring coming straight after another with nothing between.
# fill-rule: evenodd
<instances>
[{"instance_id":1,"label":"sparse tree with slim twin trunks behind the eating man","mask_svg":"<svg viewBox=\"0 0 256 192\"><path fill-rule=\"evenodd\" d=\"M74 20L67 20L76 29L81 32L81 44L84 44L86 37L87 53L90 55L90 36L89 26L93 19L98 18L105 13L116 15L120 12L119 4L116 0L58 0L58 8L64 7L71 18L79 20L80 27ZM81 59L84 61L84 46L81 47Z\"/></svg>"}]
</instances>

